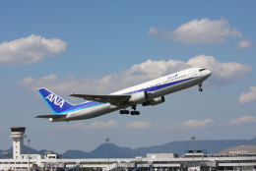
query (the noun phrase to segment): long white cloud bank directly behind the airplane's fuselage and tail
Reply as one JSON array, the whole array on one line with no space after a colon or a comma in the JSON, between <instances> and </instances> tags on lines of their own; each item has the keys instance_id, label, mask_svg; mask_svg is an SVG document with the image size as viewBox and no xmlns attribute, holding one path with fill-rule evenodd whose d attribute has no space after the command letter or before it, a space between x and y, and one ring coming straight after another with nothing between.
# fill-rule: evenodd
<instances>
[{"instance_id":1,"label":"long white cloud bank directly behind the airplane's fuselage and tail","mask_svg":"<svg viewBox=\"0 0 256 171\"><path fill-rule=\"evenodd\" d=\"M251 66L240 63L221 63L213 56L199 55L188 62L175 60L147 60L144 63L134 65L132 68L118 74L110 74L99 79L76 78L68 76L60 79L51 74L40 79L32 77L24 78L19 85L35 91L44 86L57 93L96 93L106 94L131 85L137 85L149 80L159 78L191 67L205 67L212 71L211 78L207 83L211 85L226 85L245 78L252 70Z\"/></svg>"}]
</instances>

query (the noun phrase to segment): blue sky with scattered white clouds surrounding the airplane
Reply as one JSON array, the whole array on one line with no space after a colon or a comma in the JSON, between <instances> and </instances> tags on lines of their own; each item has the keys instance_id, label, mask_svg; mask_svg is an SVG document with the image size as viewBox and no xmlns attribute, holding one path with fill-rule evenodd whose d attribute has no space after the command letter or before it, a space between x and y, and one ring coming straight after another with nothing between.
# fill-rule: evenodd
<instances>
[{"instance_id":1,"label":"blue sky with scattered white clouds surrounding the airplane","mask_svg":"<svg viewBox=\"0 0 256 171\"><path fill-rule=\"evenodd\" d=\"M256 126L255 1L2 1L0 148L27 127L36 149L93 150L106 137L132 148L252 139ZM107 94L190 67L213 72L140 116L118 112L49 123L36 88ZM27 140L25 140L27 141ZM27 142L25 142L26 144Z\"/></svg>"}]
</instances>

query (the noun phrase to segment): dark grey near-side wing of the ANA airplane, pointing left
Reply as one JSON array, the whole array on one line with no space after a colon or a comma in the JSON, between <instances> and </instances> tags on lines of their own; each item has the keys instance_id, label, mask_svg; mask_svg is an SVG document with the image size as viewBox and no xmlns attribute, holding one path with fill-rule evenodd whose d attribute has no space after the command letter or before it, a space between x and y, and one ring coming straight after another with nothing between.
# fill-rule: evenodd
<instances>
[{"instance_id":1,"label":"dark grey near-side wing of the ANA airplane, pointing left","mask_svg":"<svg viewBox=\"0 0 256 171\"><path fill-rule=\"evenodd\" d=\"M131 98L131 95L128 94L109 94L109 95L92 95L92 94L77 94L73 93L69 96L84 98L87 100L93 100L97 102L123 102Z\"/></svg>"}]
</instances>

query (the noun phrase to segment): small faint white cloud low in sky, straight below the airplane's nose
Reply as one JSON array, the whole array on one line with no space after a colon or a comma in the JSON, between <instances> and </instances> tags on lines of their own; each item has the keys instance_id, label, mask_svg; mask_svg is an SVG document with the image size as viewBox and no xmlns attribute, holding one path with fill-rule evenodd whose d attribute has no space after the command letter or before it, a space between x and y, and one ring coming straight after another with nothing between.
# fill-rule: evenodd
<instances>
[{"instance_id":1,"label":"small faint white cloud low in sky, straight below the airplane's nose","mask_svg":"<svg viewBox=\"0 0 256 171\"><path fill-rule=\"evenodd\" d=\"M203 129L213 127L215 121L212 119L206 119L205 121L189 120L181 124L183 129Z\"/></svg>"}]
</instances>

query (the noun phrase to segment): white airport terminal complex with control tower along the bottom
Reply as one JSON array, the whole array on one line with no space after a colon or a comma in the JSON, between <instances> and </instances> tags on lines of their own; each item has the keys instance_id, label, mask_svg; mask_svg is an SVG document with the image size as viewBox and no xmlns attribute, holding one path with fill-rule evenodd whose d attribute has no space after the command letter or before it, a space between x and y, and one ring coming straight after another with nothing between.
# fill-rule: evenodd
<instances>
[{"instance_id":1,"label":"white airport terminal complex with control tower along the bottom","mask_svg":"<svg viewBox=\"0 0 256 171\"><path fill-rule=\"evenodd\" d=\"M188 150L184 156L173 153L148 153L146 157L135 158L79 158L64 159L58 154L24 154L24 127L13 127L13 158L10 152L3 152L0 169L6 170L255 170L256 145L241 145L226 148L217 154L207 154L206 150Z\"/></svg>"}]
</instances>

